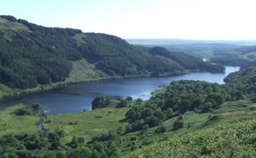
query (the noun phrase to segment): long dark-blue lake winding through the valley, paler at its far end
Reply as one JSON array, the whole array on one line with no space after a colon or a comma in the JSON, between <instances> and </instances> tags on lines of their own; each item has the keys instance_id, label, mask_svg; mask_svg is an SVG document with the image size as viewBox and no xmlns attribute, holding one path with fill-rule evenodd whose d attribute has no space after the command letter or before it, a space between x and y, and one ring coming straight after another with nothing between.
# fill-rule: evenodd
<instances>
[{"instance_id":1,"label":"long dark-blue lake winding through the valley, paler at its far end","mask_svg":"<svg viewBox=\"0 0 256 158\"><path fill-rule=\"evenodd\" d=\"M17 103L26 105L39 103L48 111L48 115L80 113L91 110L92 100L97 96L127 97L149 99L150 93L177 80L200 80L209 83L224 83L223 79L239 67L226 67L223 74L191 73L168 77L140 77L111 79L99 82L67 85L57 91L36 93L22 99L9 101L1 106L12 106Z\"/></svg>"}]
</instances>

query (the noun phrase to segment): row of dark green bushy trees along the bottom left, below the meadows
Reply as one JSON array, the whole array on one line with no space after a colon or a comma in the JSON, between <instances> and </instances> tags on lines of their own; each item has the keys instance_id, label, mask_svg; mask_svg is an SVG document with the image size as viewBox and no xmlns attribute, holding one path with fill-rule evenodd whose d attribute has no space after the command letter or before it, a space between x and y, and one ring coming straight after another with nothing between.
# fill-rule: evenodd
<instances>
[{"instance_id":1,"label":"row of dark green bushy trees along the bottom left, below the meadows","mask_svg":"<svg viewBox=\"0 0 256 158\"><path fill-rule=\"evenodd\" d=\"M0 157L13 158L101 158L121 155L121 133L109 131L85 142L74 136L67 144L61 144L63 130L43 131L33 135L5 135L0 139Z\"/></svg>"}]
</instances>

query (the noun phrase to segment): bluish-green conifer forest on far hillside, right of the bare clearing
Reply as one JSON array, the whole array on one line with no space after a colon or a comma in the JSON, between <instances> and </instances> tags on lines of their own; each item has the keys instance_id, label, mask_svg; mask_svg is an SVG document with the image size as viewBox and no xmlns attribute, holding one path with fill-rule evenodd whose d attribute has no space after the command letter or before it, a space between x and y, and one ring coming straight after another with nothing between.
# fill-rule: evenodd
<instances>
[{"instance_id":1,"label":"bluish-green conifer forest on far hillside, right of the bare clearing","mask_svg":"<svg viewBox=\"0 0 256 158\"><path fill-rule=\"evenodd\" d=\"M184 71L178 64L156 58L116 36L84 35L79 51L108 75L175 75Z\"/></svg>"}]
</instances>

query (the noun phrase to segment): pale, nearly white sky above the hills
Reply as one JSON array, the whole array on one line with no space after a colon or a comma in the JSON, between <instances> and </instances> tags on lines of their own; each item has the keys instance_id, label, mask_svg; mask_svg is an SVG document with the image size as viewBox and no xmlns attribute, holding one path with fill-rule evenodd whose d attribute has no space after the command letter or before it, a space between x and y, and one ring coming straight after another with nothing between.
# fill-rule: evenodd
<instances>
[{"instance_id":1,"label":"pale, nearly white sky above the hills","mask_svg":"<svg viewBox=\"0 0 256 158\"><path fill-rule=\"evenodd\" d=\"M0 14L124 38L256 39L256 0L0 0Z\"/></svg>"}]
</instances>

